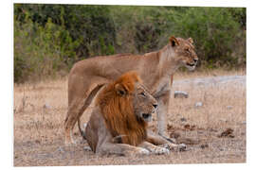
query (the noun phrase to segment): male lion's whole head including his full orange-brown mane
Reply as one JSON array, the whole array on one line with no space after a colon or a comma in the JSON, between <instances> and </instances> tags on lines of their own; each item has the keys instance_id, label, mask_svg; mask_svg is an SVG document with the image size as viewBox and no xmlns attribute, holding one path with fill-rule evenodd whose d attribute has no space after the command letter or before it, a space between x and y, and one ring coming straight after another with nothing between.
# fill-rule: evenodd
<instances>
[{"instance_id":1,"label":"male lion's whole head including his full orange-brown mane","mask_svg":"<svg viewBox=\"0 0 256 170\"><path fill-rule=\"evenodd\" d=\"M157 102L135 72L128 72L107 85L97 99L106 127L123 144L140 144Z\"/></svg>"}]
</instances>

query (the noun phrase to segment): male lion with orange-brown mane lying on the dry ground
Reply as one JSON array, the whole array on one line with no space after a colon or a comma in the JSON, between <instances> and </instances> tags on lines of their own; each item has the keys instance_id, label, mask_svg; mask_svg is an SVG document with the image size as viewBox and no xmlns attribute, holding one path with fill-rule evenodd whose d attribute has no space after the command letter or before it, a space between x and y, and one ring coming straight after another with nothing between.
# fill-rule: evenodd
<instances>
[{"instance_id":1,"label":"male lion with orange-brown mane lying on the dry ground","mask_svg":"<svg viewBox=\"0 0 256 170\"><path fill-rule=\"evenodd\" d=\"M98 154L168 154L155 144L170 144L147 133L157 101L135 72L128 72L99 92L83 137Z\"/></svg>"}]
</instances>

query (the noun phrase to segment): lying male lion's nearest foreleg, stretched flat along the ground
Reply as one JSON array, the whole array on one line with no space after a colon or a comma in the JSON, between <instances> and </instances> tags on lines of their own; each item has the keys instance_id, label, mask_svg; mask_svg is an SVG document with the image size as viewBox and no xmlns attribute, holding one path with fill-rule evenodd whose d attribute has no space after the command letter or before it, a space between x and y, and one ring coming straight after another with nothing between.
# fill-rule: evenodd
<instances>
[{"instance_id":1,"label":"lying male lion's nearest foreleg, stretched flat along the ground","mask_svg":"<svg viewBox=\"0 0 256 170\"><path fill-rule=\"evenodd\" d=\"M105 143L105 144L101 144L101 146L97 148L96 153L101 155L117 154L117 155L124 155L124 156L133 156L133 155L148 155L150 151L145 148L137 147L129 144Z\"/></svg>"}]
</instances>

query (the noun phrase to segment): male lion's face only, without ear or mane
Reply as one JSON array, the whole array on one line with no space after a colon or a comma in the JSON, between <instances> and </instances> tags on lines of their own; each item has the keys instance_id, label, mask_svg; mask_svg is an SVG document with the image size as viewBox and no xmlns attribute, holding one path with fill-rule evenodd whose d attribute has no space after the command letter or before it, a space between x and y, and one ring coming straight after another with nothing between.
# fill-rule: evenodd
<instances>
[{"instance_id":1,"label":"male lion's face only, without ear or mane","mask_svg":"<svg viewBox=\"0 0 256 170\"><path fill-rule=\"evenodd\" d=\"M152 114L155 113L157 101L142 84L137 83L133 93L133 107L138 118L145 122L152 121Z\"/></svg>"}]
</instances>

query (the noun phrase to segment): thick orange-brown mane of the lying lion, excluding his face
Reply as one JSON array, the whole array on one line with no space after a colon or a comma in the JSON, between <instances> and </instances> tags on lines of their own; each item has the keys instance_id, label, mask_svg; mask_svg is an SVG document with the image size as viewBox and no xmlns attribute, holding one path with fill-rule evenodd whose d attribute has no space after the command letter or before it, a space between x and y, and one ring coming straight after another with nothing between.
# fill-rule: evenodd
<instances>
[{"instance_id":1,"label":"thick orange-brown mane of the lying lion, excluding his face","mask_svg":"<svg viewBox=\"0 0 256 170\"><path fill-rule=\"evenodd\" d=\"M114 138L121 139L122 144L137 145L147 137L147 123L137 118L133 108L132 93L137 82L141 83L141 80L135 72L124 74L117 81L109 84L97 100L106 127ZM117 84L125 90L124 95L117 92Z\"/></svg>"}]
</instances>

